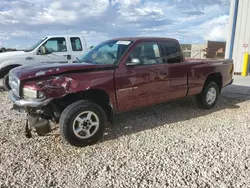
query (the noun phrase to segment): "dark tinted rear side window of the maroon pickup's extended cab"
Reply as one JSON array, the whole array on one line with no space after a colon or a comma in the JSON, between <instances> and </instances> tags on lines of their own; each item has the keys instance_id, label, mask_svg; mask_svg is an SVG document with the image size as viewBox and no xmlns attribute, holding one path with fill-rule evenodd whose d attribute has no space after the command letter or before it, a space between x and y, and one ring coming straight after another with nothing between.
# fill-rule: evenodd
<instances>
[{"instance_id":1,"label":"dark tinted rear side window of the maroon pickup's extended cab","mask_svg":"<svg viewBox=\"0 0 250 188\"><path fill-rule=\"evenodd\" d=\"M182 61L181 49L179 44L173 41L163 42L162 46L164 48L164 62L180 63Z\"/></svg>"}]
</instances>

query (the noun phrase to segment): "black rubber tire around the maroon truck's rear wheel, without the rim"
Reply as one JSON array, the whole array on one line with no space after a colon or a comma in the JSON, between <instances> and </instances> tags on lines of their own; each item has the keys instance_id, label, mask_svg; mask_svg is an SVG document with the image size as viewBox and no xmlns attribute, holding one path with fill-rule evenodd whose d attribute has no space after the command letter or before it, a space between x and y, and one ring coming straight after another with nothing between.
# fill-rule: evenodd
<instances>
[{"instance_id":1,"label":"black rubber tire around the maroon truck's rear wheel, without the rim","mask_svg":"<svg viewBox=\"0 0 250 188\"><path fill-rule=\"evenodd\" d=\"M209 103L207 101L207 95L208 95L208 91L214 88L216 91L216 95L215 95L215 100L211 103ZM199 107L204 108L204 109L211 109L214 107L214 105L216 104L217 100L218 100L218 96L219 96L219 87L215 82L209 82L208 84L206 84L202 90L202 92L200 94L198 94L196 96L196 101Z\"/></svg>"}]
</instances>

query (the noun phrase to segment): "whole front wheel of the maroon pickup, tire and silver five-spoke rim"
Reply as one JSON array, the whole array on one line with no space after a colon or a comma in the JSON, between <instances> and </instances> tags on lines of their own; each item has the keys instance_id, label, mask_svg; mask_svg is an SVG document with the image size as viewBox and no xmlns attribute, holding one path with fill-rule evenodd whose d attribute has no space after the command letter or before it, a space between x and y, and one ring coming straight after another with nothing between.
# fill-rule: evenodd
<instances>
[{"instance_id":1,"label":"whole front wheel of the maroon pickup, tire and silver five-spoke rim","mask_svg":"<svg viewBox=\"0 0 250 188\"><path fill-rule=\"evenodd\" d=\"M59 121L63 138L73 146L84 147L96 143L106 125L103 109L90 101L78 101L69 105Z\"/></svg>"}]
</instances>

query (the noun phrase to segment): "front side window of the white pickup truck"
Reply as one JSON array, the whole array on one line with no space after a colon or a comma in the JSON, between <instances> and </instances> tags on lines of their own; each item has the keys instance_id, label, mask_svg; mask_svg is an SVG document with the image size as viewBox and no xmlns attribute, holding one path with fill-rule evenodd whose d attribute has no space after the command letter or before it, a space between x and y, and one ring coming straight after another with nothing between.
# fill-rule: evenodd
<instances>
[{"instance_id":1,"label":"front side window of the white pickup truck","mask_svg":"<svg viewBox=\"0 0 250 188\"><path fill-rule=\"evenodd\" d=\"M66 40L63 37L51 38L47 40L47 42L45 42L43 46L45 47L45 50L49 53L67 51Z\"/></svg>"}]
</instances>

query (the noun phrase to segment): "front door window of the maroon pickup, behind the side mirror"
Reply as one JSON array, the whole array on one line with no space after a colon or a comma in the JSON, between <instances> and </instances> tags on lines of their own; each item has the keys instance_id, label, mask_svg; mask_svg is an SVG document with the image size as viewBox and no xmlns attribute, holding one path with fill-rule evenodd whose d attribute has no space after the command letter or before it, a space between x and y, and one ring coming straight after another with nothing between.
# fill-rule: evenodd
<instances>
[{"instance_id":1,"label":"front door window of the maroon pickup, behind the side mirror","mask_svg":"<svg viewBox=\"0 0 250 188\"><path fill-rule=\"evenodd\" d=\"M139 59L141 65L150 65L161 62L158 44L156 42L143 42L133 49L129 60Z\"/></svg>"}]
</instances>

